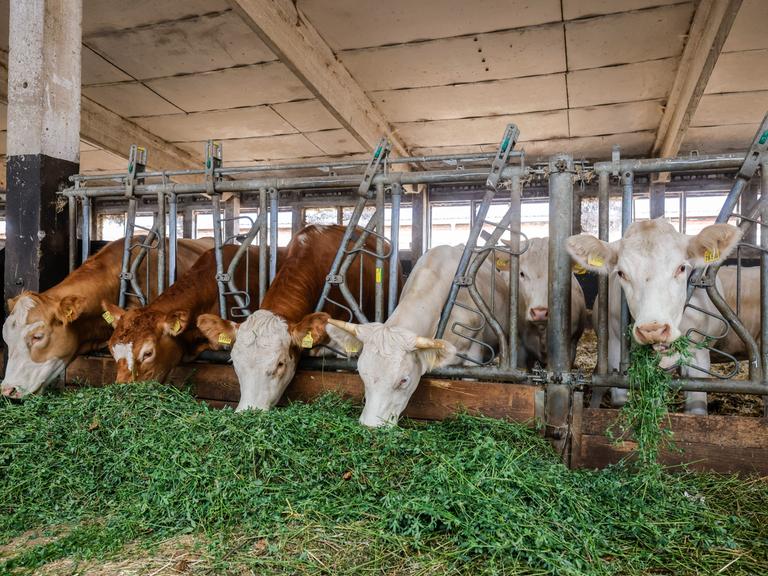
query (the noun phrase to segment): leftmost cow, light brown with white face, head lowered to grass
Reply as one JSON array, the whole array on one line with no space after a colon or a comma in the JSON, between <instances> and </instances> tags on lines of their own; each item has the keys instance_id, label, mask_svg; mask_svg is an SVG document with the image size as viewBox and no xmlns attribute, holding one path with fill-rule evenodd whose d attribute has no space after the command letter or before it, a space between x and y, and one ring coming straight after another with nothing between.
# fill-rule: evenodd
<instances>
[{"instance_id":1,"label":"leftmost cow, light brown with white face, head lowered to grass","mask_svg":"<svg viewBox=\"0 0 768 576\"><path fill-rule=\"evenodd\" d=\"M186 272L212 246L213 239L180 239L179 273ZM40 293L22 292L8 300L8 318L3 324L3 339L8 345L3 396L23 398L41 392L75 356L104 345L111 328L102 317L101 302L118 298L122 259L123 240L115 240L53 288ZM138 270L142 285L147 260ZM150 298L156 293L152 284Z\"/></svg>"}]
</instances>

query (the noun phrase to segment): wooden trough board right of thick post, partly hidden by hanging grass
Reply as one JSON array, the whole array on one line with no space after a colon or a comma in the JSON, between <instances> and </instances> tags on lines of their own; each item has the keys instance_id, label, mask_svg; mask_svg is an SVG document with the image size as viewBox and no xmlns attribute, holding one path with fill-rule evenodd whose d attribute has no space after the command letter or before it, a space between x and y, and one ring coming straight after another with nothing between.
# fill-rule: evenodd
<instances>
[{"instance_id":1,"label":"wooden trough board right of thick post, partly hidden by hanging grass","mask_svg":"<svg viewBox=\"0 0 768 576\"><path fill-rule=\"evenodd\" d=\"M630 456L635 443L616 443L606 430L617 410L585 408L581 438L572 454L574 467L602 468ZM670 414L668 427L674 447L660 460L666 465L687 463L694 470L768 474L768 419L745 416L690 416Z\"/></svg>"}]
</instances>

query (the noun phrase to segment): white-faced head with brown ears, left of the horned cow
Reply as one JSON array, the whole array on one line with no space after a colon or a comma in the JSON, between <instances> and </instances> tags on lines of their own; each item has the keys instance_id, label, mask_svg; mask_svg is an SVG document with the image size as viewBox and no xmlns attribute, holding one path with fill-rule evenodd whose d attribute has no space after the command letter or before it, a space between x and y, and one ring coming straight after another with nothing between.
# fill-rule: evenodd
<instances>
[{"instance_id":1,"label":"white-faced head with brown ears, left of the horned cow","mask_svg":"<svg viewBox=\"0 0 768 576\"><path fill-rule=\"evenodd\" d=\"M269 410L293 379L302 349L327 341L327 321L328 314L323 312L288 323L269 310L257 310L239 325L203 314L197 327L214 350L232 347L232 364L240 381L237 410Z\"/></svg>"}]
</instances>

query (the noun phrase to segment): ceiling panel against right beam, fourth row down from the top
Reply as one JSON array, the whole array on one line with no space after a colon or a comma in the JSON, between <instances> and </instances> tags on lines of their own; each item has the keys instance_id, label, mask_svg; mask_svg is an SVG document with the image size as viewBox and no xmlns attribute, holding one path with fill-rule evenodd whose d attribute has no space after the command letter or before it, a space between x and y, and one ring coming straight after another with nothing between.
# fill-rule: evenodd
<instances>
[{"instance_id":1,"label":"ceiling panel against right beam, fourth row down from the top","mask_svg":"<svg viewBox=\"0 0 768 576\"><path fill-rule=\"evenodd\" d=\"M655 130L663 109L659 100L627 102L572 109L571 136L601 136L641 130Z\"/></svg>"}]
</instances>

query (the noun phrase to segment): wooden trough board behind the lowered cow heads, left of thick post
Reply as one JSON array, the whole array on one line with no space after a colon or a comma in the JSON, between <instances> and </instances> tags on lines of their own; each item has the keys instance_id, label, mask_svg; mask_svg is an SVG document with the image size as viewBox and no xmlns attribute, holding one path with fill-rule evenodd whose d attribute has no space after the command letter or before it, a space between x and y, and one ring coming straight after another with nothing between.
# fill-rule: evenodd
<instances>
[{"instance_id":1,"label":"wooden trough board behind the lowered cow heads, left of thick post","mask_svg":"<svg viewBox=\"0 0 768 576\"><path fill-rule=\"evenodd\" d=\"M115 362L111 357L81 356L67 368L66 384L82 382L100 386L114 382L115 372ZM234 406L240 399L240 386L231 365L185 364L171 373L170 382L190 385L197 398L216 407ZM357 374L350 372L302 371L288 386L282 402L308 401L329 391L359 401L363 397L363 383ZM459 411L466 411L532 423L535 392L533 386L424 378L405 415L422 420L442 420Z\"/></svg>"}]
</instances>

